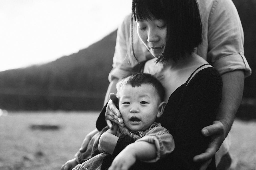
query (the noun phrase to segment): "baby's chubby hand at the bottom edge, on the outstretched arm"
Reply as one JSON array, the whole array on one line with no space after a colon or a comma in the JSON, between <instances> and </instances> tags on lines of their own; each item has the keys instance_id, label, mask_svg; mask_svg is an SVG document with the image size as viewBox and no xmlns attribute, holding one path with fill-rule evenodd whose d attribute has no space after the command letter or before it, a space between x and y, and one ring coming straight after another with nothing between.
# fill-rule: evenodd
<instances>
[{"instance_id":1,"label":"baby's chubby hand at the bottom edge, on the outstretched arm","mask_svg":"<svg viewBox=\"0 0 256 170\"><path fill-rule=\"evenodd\" d=\"M109 170L128 170L135 162L135 154L123 150L115 157Z\"/></svg>"}]
</instances>

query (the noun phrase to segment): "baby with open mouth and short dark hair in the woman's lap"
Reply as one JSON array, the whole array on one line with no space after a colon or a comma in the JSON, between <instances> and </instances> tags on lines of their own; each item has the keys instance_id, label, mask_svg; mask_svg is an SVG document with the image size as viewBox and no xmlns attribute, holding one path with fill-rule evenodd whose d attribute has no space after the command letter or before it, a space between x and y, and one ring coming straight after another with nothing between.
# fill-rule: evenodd
<instances>
[{"instance_id":1,"label":"baby with open mouth and short dark hair in the woman's lap","mask_svg":"<svg viewBox=\"0 0 256 170\"><path fill-rule=\"evenodd\" d=\"M167 129L155 122L156 117L161 117L166 102L165 91L162 84L151 74L132 74L117 84L117 97L119 99L119 110L124 120L125 127L119 126L116 134L113 130L105 127L91 139L87 151L78 152L74 159L67 161L62 170L72 169L101 169L103 159L110 155L102 152L99 146L100 137L103 133L111 133L115 136L122 134L135 139L129 149L124 149L117 159L131 161L124 155L136 155L134 161L147 160L156 162L174 150L175 144L172 135ZM117 126L117 125L115 125ZM149 145L148 145L149 144ZM142 147L143 146L143 147ZM150 154L145 154L147 151ZM150 156L152 154L152 156ZM123 155L123 156L122 156ZM111 162L110 162L111 165Z\"/></svg>"}]
</instances>

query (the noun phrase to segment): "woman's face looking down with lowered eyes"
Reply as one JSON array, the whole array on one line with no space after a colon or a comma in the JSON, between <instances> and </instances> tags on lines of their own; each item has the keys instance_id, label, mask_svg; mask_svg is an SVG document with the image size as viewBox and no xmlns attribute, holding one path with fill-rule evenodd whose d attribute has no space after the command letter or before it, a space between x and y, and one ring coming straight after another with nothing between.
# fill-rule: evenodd
<instances>
[{"instance_id":1,"label":"woman's face looking down with lowered eyes","mask_svg":"<svg viewBox=\"0 0 256 170\"><path fill-rule=\"evenodd\" d=\"M137 21L137 32L150 53L158 58L163 50L166 39L166 23L164 20L154 19Z\"/></svg>"}]
</instances>

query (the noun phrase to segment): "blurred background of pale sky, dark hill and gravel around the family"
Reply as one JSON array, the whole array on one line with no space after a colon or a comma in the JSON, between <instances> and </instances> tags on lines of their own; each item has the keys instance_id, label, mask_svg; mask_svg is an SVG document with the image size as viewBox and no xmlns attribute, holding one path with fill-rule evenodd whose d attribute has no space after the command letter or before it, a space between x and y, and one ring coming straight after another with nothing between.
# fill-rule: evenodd
<instances>
[{"instance_id":1,"label":"blurred background of pale sky, dark hill and gravel around the family","mask_svg":"<svg viewBox=\"0 0 256 170\"><path fill-rule=\"evenodd\" d=\"M252 152L240 164L254 169L248 141L256 139L256 0L233 2L252 69L233 127L240 139L245 131L250 137L233 146L246 150L233 153ZM0 169L59 169L73 158L95 128L116 29L130 8L131 0L0 1Z\"/></svg>"}]
</instances>

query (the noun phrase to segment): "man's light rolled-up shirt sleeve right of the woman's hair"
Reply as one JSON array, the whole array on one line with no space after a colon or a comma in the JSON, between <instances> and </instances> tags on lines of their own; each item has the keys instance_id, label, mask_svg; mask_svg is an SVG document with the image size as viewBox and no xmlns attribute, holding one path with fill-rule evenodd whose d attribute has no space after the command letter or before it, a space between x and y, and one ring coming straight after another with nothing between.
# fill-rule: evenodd
<instances>
[{"instance_id":1,"label":"man's light rolled-up shirt sleeve right of the woman's hair","mask_svg":"<svg viewBox=\"0 0 256 170\"><path fill-rule=\"evenodd\" d=\"M251 75L244 56L242 24L231 0L219 0L213 4L209 15L208 41L207 59L220 74L244 70L246 77Z\"/></svg>"}]
</instances>

